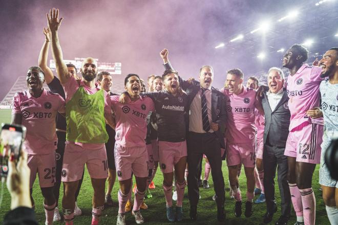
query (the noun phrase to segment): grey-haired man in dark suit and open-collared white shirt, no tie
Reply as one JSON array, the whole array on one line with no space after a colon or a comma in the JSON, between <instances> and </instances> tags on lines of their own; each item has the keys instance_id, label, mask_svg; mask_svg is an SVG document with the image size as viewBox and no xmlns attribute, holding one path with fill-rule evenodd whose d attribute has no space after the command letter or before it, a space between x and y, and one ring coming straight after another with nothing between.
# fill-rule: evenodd
<instances>
[{"instance_id":1,"label":"grey-haired man in dark suit and open-collared white shirt, no tie","mask_svg":"<svg viewBox=\"0 0 338 225\"><path fill-rule=\"evenodd\" d=\"M265 113L264 127L264 188L267 212L264 223L272 220L277 211L274 196L274 177L278 166L278 186L281 194L282 215L275 224L287 224L291 213L291 196L287 183L287 156L284 155L289 133L290 111L288 96L284 86L284 73L273 67L268 72L268 87L261 86L257 96L261 99Z\"/></svg>"}]
</instances>

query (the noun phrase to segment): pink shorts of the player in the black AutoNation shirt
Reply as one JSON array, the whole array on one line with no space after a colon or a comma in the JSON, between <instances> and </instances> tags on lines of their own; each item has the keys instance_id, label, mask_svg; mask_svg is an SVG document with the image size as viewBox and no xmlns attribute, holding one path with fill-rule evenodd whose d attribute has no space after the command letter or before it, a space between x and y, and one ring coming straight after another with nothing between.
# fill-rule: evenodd
<instances>
[{"instance_id":1,"label":"pink shorts of the player in the black AutoNation shirt","mask_svg":"<svg viewBox=\"0 0 338 225\"><path fill-rule=\"evenodd\" d=\"M183 142L158 142L158 152L162 173L173 172L175 164L187 156L186 141Z\"/></svg>"}]
</instances>

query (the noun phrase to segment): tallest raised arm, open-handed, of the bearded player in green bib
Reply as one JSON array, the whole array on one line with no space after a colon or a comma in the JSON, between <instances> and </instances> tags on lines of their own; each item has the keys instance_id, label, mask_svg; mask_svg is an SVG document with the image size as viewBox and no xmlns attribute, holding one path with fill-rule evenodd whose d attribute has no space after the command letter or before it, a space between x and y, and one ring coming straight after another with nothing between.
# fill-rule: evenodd
<instances>
[{"instance_id":1,"label":"tallest raised arm, open-handed, of the bearded player in green bib","mask_svg":"<svg viewBox=\"0 0 338 225\"><path fill-rule=\"evenodd\" d=\"M48 28L51 31L52 53L56 65L56 72L59 75L61 84L68 82L70 75L68 74L67 65L62 55L62 50L59 42L57 31L64 18L59 19L59 10L53 8L46 14L48 20Z\"/></svg>"}]
</instances>

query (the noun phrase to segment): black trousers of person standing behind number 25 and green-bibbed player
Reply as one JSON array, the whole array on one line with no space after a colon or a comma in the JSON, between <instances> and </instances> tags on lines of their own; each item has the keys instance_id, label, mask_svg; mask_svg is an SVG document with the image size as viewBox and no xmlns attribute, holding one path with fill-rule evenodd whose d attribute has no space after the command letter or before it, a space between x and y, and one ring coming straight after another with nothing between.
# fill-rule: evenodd
<instances>
[{"instance_id":1,"label":"black trousers of person standing behind number 25 and green-bibbed player","mask_svg":"<svg viewBox=\"0 0 338 225\"><path fill-rule=\"evenodd\" d=\"M61 185L61 171L62 171L62 163L64 162L64 153L65 153L65 142L66 142L66 132L56 131L57 135L57 149L56 149L56 172L55 172L55 184L54 184L54 196L56 199L56 206L59 200L60 195L60 185ZM77 200L77 196L79 195L80 188L83 181L83 174L85 174L85 170L83 169L82 177L77 186L77 190L75 192L75 201Z\"/></svg>"}]
</instances>

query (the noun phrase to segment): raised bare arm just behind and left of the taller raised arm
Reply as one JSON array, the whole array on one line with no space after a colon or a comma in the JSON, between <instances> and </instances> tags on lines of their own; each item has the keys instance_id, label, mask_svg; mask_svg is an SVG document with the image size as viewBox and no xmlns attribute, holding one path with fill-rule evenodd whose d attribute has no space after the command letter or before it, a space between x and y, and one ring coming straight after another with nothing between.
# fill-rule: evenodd
<instances>
[{"instance_id":1,"label":"raised bare arm just behind and left of the taller raised arm","mask_svg":"<svg viewBox=\"0 0 338 225\"><path fill-rule=\"evenodd\" d=\"M41 70L43 70L43 72L45 73L46 83L49 84L54 79L53 72L47 65L49 44L51 42L51 32L48 27L47 29L44 28L43 32L45 35L45 42L44 42L43 47L41 48L38 63L39 63Z\"/></svg>"}]
</instances>

